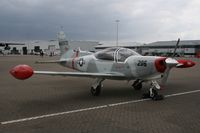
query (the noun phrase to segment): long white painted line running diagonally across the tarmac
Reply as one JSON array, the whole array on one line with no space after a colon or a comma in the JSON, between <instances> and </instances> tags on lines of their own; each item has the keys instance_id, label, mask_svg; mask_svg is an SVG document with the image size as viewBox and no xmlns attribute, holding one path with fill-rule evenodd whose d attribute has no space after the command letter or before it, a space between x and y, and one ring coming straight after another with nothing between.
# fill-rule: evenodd
<instances>
[{"instance_id":1,"label":"long white painted line running diagonally across the tarmac","mask_svg":"<svg viewBox=\"0 0 200 133\"><path fill-rule=\"evenodd\" d=\"M175 93L175 94L165 95L165 97L175 97L175 96L192 94L192 93L197 93L197 92L200 92L200 90ZM84 108L84 109L77 109L77 110L60 112L60 113L53 113L53 114L40 115L40 116L28 117L28 118L17 119L17 120L4 121L4 122L1 122L1 125L14 124L14 123L31 121L31 120L36 120L36 119L44 119L44 118L48 118L48 117L54 117L54 116L60 116L60 115L66 115L66 114L79 113L79 112L84 112L84 111L90 111L90 110L96 110L96 109L114 107L114 106L131 104L131 103L139 103L139 102L144 102L144 101L149 101L149 100L151 100L151 99L147 98L147 99L132 100L132 101L127 101L127 102L119 102L119 103L113 103L113 104L106 104L106 105L102 105L102 106L96 106L96 107L90 107L90 108Z\"/></svg>"}]
</instances>

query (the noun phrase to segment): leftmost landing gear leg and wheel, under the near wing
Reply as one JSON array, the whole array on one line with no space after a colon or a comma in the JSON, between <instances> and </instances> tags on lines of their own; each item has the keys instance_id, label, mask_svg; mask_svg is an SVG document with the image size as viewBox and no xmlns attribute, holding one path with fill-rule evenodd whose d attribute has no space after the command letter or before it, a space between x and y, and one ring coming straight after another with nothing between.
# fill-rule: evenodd
<instances>
[{"instance_id":1,"label":"leftmost landing gear leg and wheel, under the near wing","mask_svg":"<svg viewBox=\"0 0 200 133\"><path fill-rule=\"evenodd\" d=\"M105 79L95 79L94 84L91 87L91 94L93 96L99 96L101 93L101 88L103 85L101 84Z\"/></svg>"}]
</instances>

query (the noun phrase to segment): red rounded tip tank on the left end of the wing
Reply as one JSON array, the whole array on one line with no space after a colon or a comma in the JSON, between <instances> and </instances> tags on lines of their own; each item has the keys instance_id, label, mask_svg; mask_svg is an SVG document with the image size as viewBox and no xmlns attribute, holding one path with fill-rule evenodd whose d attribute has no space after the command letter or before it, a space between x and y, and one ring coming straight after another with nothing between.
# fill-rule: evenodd
<instances>
[{"instance_id":1,"label":"red rounded tip tank on the left end of the wing","mask_svg":"<svg viewBox=\"0 0 200 133\"><path fill-rule=\"evenodd\" d=\"M18 65L10 70L12 74L17 79L27 79L33 75L33 69L28 65Z\"/></svg>"}]
</instances>

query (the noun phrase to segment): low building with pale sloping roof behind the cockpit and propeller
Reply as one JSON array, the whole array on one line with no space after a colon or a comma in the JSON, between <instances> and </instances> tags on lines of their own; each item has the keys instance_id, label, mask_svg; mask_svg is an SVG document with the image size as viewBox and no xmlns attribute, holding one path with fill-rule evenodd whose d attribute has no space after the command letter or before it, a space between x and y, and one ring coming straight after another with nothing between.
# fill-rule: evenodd
<instances>
[{"instance_id":1,"label":"low building with pale sloping roof behind the cockpit and propeller","mask_svg":"<svg viewBox=\"0 0 200 133\"><path fill-rule=\"evenodd\" d=\"M142 55L170 56L173 54L177 41L157 41L153 43L123 43L120 47L134 49ZM98 45L96 50L113 47L115 45ZM200 40L181 40L176 56L200 57Z\"/></svg>"}]
</instances>

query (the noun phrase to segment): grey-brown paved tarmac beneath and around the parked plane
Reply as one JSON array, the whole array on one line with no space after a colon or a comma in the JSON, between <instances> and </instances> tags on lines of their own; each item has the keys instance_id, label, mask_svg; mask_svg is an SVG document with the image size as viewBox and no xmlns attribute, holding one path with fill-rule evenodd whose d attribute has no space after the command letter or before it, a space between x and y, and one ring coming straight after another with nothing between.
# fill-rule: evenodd
<instances>
[{"instance_id":1,"label":"grey-brown paved tarmac beneath and around the parked plane","mask_svg":"<svg viewBox=\"0 0 200 133\"><path fill-rule=\"evenodd\" d=\"M200 59L188 69L174 68L164 100L142 99L132 82L106 80L100 96L90 94L93 79L34 75L17 80L9 70L71 71L35 61L59 57L0 56L0 133L197 133L200 132Z\"/></svg>"}]
</instances>

